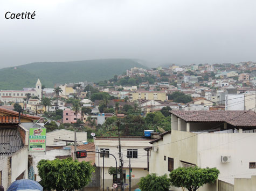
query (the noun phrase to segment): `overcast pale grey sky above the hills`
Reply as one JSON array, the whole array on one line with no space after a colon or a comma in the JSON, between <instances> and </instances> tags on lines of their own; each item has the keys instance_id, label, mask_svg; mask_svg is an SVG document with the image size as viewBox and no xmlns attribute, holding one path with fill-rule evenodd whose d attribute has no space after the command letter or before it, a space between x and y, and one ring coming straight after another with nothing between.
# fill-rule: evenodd
<instances>
[{"instance_id":1,"label":"overcast pale grey sky above the hills","mask_svg":"<svg viewBox=\"0 0 256 191\"><path fill-rule=\"evenodd\" d=\"M43 61L256 61L255 0L1 0L0 68ZM36 11L33 20L7 11Z\"/></svg>"}]
</instances>

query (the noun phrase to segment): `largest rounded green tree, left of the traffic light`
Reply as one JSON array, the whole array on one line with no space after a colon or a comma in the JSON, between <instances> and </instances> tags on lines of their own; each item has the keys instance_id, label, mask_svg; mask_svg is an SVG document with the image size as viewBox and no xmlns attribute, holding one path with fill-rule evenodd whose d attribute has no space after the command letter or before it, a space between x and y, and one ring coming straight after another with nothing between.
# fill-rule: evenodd
<instances>
[{"instance_id":1,"label":"largest rounded green tree, left of the traffic light","mask_svg":"<svg viewBox=\"0 0 256 191\"><path fill-rule=\"evenodd\" d=\"M94 167L89 162L78 162L72 158L40 160L38 172L40 185L45 190L79 190L91 181Z\"/></svg>"}]
</instances>

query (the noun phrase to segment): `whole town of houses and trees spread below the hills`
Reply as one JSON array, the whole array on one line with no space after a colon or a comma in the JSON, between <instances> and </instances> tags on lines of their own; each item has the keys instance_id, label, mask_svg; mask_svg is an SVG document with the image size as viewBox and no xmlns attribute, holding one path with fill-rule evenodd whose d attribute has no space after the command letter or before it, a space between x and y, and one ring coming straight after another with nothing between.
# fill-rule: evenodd
<instances>
[{"instance_id":1,"label":"whole town of houses and trees spread below the hills","mask_svg":"<svg viewBox=\"0 0 256 191\"><path fill-rule=\"evenodd\" d=\"M4 190L256 189L256 62L34 84L0 90Z\"/></svg>"}]
</instances>

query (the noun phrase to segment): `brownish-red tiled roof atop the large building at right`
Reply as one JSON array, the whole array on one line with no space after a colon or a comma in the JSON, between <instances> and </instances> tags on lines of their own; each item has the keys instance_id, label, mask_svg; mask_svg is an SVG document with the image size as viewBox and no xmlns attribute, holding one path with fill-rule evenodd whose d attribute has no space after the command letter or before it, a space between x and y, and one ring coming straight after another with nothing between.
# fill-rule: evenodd
<instances>
[{"instance_id":1,"label":"brownish-red tiled roof atop the large building at right","mask_svg":"<svg viewBox=\"0 0 256 191\"><path fill-rule=\"evenodd\" d=\"M253 111L170 111L186 122L226 122L232 126L256 127Z\"/></svg>"}]
</instances>

